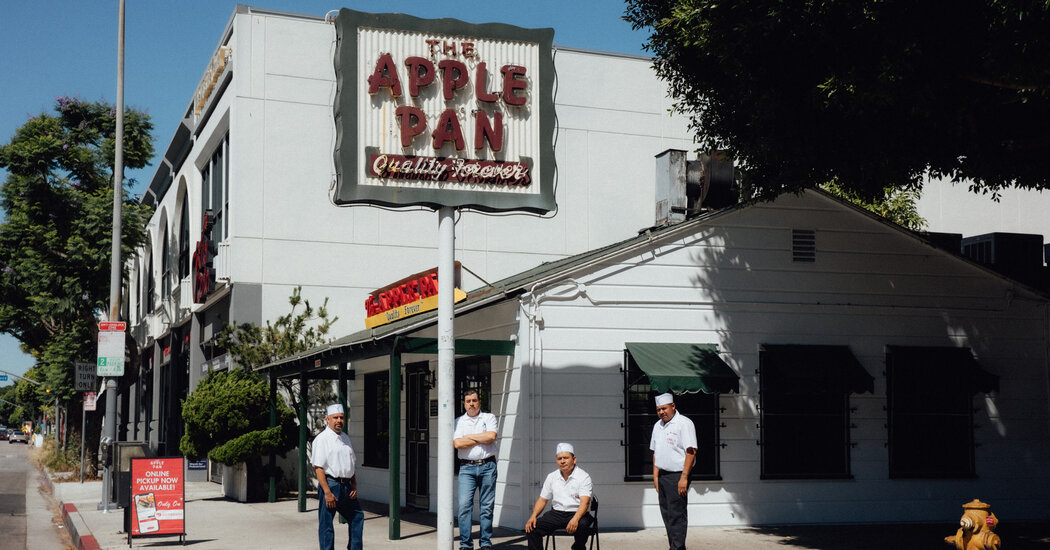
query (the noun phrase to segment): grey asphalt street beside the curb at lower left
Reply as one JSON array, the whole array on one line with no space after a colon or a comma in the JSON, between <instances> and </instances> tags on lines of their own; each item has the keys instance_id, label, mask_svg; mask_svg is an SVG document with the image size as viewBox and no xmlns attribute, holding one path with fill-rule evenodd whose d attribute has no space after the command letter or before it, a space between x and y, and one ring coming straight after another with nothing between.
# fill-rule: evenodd
<instances>
[{"instance_id":1,"label":"grey asphalt street beside the curb at lower left","mask_svg":"<svg viewBox=\"0 0 1050 550\"><path fill-rule=\"evenodd\" d=\"M0 441L0 550L71 549L32 450Z\"/></svg>"}]
</instances>

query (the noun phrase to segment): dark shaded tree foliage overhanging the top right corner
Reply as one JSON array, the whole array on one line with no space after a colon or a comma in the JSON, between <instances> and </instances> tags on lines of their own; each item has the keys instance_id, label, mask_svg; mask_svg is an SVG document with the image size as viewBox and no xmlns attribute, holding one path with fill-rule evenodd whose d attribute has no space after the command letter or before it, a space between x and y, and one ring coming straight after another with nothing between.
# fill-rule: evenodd
<instances>
[{"instance_id":1,"label":"dark shaded tree foliage overhanging the top right corner","mask_svg":"<svg viewBox=\"0 0 1050 550\"><path fill-rule=\"evenodd\" d=\"M705 149L757 198L835 182L864 198L929 173L1050 187L1050 4L627 0Z\"/></svg>"}]
</instances>

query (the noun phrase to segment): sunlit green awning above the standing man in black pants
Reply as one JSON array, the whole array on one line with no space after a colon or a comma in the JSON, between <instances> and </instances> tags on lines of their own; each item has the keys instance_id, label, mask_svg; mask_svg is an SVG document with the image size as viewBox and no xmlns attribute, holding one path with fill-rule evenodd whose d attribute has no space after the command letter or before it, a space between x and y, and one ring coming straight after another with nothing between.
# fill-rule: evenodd
<instances>
[{"instance_id":1,"label":"sunlit green awning above the standing man in black pants","mask_svg":"<svg viewBox=\"0 0 1050 550\"><path fill-rule=\"evenodd\" d=\"M656 392L740 392L740 377L718 357L715 344L629 342L627 352Z\"/></svg>"}]
</instances>

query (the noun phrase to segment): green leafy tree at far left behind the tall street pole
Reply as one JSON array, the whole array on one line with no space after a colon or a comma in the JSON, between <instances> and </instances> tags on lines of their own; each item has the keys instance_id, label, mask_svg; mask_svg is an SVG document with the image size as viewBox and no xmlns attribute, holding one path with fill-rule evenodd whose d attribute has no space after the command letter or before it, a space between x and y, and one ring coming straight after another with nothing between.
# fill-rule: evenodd
<instances>
[{"instance_id":1,"label":"green leafy tree at far left behind the tall street pole","mask_svg":"<svg viewBox=\"0 0 1050 550\"><path fill-rule=\"evenodd\" d=\"M116 121L104 102L58 98L54 112L30 118L0 145L7 171L0 186L0 331L36 358L33 378L43 384L19 384L24 412L49 406L56 395L68 403L75 362L97 353L98 316L109 300ZM153 154L149 115L126 109L124 125L125 166L142 168ZM121 250L130 257L145 242L149 211L127 189L122 194ZM133 340L129 345L136 357ZM80 407L69 409L79 420Z\"/></svg>"}]
</instances>

